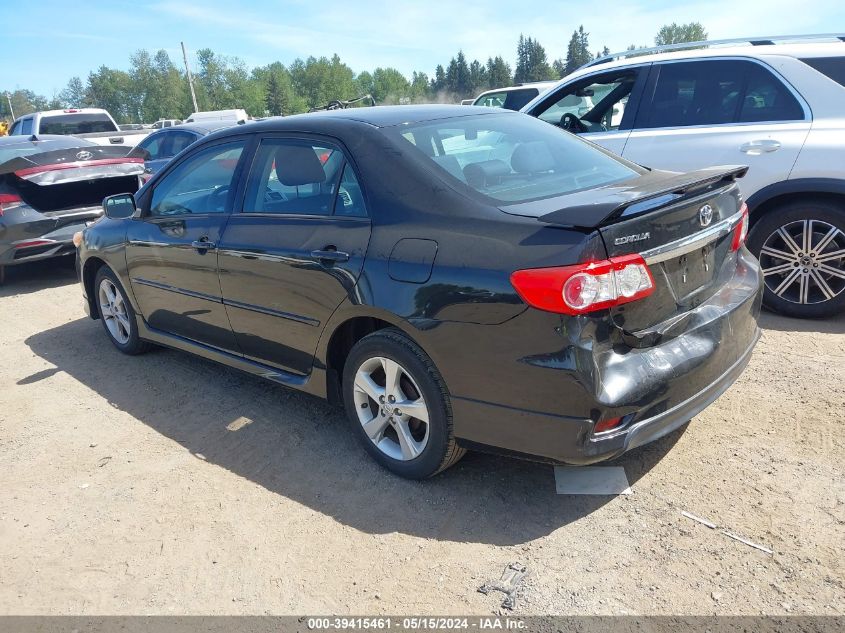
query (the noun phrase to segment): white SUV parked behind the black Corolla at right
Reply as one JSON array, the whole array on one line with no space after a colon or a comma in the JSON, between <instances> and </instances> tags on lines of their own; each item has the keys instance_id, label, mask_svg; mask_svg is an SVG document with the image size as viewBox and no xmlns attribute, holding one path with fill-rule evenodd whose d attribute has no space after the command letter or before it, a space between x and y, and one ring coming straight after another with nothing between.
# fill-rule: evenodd
<instances>
[{"instance_id":1,"label":"white SUV parked behind the black Corolla at right","mask_svg":"<svg viewBox=\"0 0 845 633\"><path fill-rule=\"evenodd\" d=\"M522 112L657 169L749 165L739 185L764 303L822 317L845 309L845 35L786 39L611 55ZM594 105L561 115L573 97Z\"/></svg>"}]
</instances>

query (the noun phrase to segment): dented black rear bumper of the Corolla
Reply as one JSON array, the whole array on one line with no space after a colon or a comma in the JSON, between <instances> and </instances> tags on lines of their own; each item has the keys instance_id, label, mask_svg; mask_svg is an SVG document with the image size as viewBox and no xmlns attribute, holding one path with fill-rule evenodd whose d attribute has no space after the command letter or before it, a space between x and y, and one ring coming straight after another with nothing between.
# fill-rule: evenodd
<instances>
[{"instance_id":1,"label":"dented black rear bumper of the Corolla","mask_svg":"<svg viewBox=\"0 0 845 633\"><path fill-rule=\"evenodd\" d=\"M530 370L530 383L522 383L526 391L557 390L562 399L567 385L569 389L577 385L580 415L453 396L458 441L469 448L590 464L671 433L742 374L760 338L761 283L759 266L746 252L731 282L693 310L684 331L676 336L642 349L614 345L598 350L595 343L593 349L572 352L569 356L577 358L564 370L562 364L552 366L547 361L547 369ZM522 365L514 371L528 370ZM617 417L618 426L595 432L598 420Z\"/></svg>"}]
</instances>

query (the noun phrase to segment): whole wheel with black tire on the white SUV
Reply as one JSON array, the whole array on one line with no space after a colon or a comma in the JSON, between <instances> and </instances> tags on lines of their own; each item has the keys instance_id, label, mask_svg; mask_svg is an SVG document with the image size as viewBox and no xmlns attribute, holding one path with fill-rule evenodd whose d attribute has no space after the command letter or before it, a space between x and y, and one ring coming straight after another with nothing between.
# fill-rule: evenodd
<instances>
[{"instance_id":1,"label":"whole wheel with black tire on the white SUV","mask_svg":"<svg viewBox=\"0 0 845 633\"><path fill-rule=\"evenodd\" d=\"M754 223L748 248L760 260L768 309L797 318L845 310L845 204L809 198L772 208Z\"/></svg>"}]
</instances>

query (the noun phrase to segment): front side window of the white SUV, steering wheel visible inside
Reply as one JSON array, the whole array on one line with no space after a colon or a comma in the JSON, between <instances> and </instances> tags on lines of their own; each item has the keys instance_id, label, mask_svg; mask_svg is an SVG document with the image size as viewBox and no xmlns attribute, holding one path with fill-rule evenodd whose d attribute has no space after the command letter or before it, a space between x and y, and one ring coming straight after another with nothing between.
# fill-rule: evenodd
<instances>
[{"instance_id":1,"label":"front side window of the white SUV, steering wheel visible inside","mask_svg":"<svg viewBox=\"0 0 845 633\"><path fill-rule=\"evenodd\" d=\"M547 123L569 128L572 126L567 125L566 119L576 117L580 120L576 129L585 132L618 130L636 79L636 70L584 79L555 93L556 99L547 101L545 109L535 115Z\"/></svg>"}]
</instances>

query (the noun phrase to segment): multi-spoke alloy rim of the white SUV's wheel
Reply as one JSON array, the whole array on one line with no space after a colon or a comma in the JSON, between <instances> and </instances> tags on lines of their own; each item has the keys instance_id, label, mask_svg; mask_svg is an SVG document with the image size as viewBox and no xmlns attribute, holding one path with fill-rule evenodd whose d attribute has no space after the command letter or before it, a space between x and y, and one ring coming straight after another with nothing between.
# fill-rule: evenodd
<instances>
[{"instance_id":1,"label":"multi-spoke alloy rim of the white SUV's wheel","mask_svg":"<svg viewBox=\"0 0 845 633\"><path fill-rule=\"evenodd\" d=\"M845 233L822 220L774 231L760 250L766 287L790 303L823 303L845 290Z\"/></svg>"}]
</instances>

